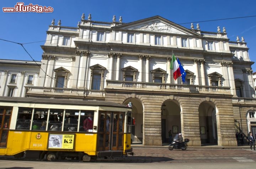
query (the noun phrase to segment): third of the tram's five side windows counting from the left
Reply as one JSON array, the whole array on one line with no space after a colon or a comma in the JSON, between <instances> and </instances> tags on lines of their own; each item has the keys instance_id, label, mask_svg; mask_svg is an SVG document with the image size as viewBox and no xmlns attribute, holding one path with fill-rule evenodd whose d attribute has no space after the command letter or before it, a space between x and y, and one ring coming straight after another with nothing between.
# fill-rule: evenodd
<instances>
[{"instance_id":1,"label":"third of the tram's five side windows counting from the left","mask_svg":"<svg viewBox=\"0 0 256 169\"><path fill-rule=\"evenodd\" d=\"M63 112L63 109L50 109L48 130L62 130Z\"/></svg>"}]
</instances>

